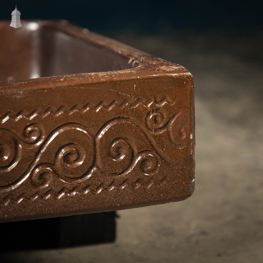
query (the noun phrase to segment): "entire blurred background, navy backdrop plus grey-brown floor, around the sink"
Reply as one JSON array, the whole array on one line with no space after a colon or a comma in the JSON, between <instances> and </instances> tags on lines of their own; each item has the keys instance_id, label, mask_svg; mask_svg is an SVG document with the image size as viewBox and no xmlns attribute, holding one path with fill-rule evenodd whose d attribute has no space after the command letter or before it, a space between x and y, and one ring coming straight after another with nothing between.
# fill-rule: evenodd
<instances>
[{"instance_id":1,"label":"entire blurred background, navy backdrop plus grey-brown floor, around the sink","mask_svg":"<svg viewBox=\"0 0 263 263\"><path fill-rule=\"evenodd\" d=\"M183 202L119 211L112 244L18 251L0 262L263 262L262 7L259 1L17 1L21 19L67 19L190 70L196 189ZM0 19L11 21L14 8L2 1Z\"/></svg>"}]
</instances>

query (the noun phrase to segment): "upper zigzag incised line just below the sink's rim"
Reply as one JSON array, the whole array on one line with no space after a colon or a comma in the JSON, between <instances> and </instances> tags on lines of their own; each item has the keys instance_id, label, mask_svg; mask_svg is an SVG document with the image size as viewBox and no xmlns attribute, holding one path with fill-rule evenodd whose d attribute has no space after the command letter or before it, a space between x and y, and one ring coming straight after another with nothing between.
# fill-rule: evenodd
<instances>
[{"instance_id":1,"label":"upper zigzag incised line just below the sink's rim","mask_svg":"<svg viewBox=\"0 0 263 263\"><path fill-rule=\"evenodd\" d=\"M9 119L14 121L18 121L21 118L32 120L36 116L39 116L40 118L43 119L48 115L52 115L53 117L58 117L61 114L72 115L75 112L79 112L83 114L88 110L94 110L95 112L98 112L99 110L104 109L105 111L109 112L114 107L125 109L128 106L130 106L131 108L137 108L139 105L141 105L145 108L149 108L152 104L155 104L157 107L163 107L165 104L174 105L176 100L177 100L176 98L171 99L169 96L165 95L162 99L160 99L158 96L154 98L150 98L148 100L139 97L138 99L135 100L125 99L121 103L117 102L116 100L113 100L110 104L105 104L105 102L102 100L96 106L93 106L90 103L87 103L84 106L77 103L72 108L62 105L57 110L54 109L53 107L48 107L45 111L40 109L35 109L31 113L27 113L25 110L21 110L17 114L13 113L12 111L8 111L0 118L0 123L3 124L7 122Z\"/></svg>"}]
</instances>

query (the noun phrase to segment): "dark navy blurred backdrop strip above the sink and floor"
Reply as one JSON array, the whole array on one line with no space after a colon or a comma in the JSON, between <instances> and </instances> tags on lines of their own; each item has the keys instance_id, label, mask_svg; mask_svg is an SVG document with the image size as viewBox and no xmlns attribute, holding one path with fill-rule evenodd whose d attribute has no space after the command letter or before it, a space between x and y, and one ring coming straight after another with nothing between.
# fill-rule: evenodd
<instances>
[{"instance_id":1,"label":"dark navy blurred backdrop strip above the sink and floor","mask_svg":"<svg viewBox=\"0 0 263 263\"><path fill-rule=\"evenodd\" d=\"M0 19L67 19L92 31L170 33L261 29L262 1L1 1Z\"/></svg>"}]
</instances>

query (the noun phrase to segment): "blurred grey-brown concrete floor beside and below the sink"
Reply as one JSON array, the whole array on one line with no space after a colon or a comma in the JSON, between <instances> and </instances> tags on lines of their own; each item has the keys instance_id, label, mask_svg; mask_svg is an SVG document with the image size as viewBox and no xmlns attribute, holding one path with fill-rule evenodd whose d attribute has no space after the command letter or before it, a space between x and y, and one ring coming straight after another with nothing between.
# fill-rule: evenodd
<instances>
[{"instance_id":1,"label":"blurred grey-brown concrete floor beside and below the sink","mask_svg":"<svg viewBox=\"0 0 263 263\"><path fill-rule=\"evenodd\" d=\"M263 262L263 34L114 38L184 65L194 75L194 195L119 211L113 244L2 258L28 263Z\"/></svg>"}]
</instances>

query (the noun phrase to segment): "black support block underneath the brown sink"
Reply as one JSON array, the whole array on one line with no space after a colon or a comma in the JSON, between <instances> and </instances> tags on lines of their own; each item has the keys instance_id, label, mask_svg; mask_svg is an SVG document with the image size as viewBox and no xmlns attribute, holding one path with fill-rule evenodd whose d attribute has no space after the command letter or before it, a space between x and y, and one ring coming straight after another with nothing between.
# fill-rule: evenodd
<instances>
[{"instance_id":1,"label":"black support block underneath the brown sink","mask_svg":"<svg viewBox=\"0 0 263 263\"><path fill-rule=\"evenodd\" d=\"M116 212L0 224L1 251L72 247L113 242Z\"/></svg>"}]
</instances>

